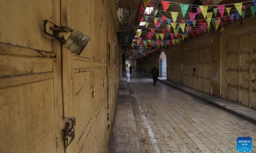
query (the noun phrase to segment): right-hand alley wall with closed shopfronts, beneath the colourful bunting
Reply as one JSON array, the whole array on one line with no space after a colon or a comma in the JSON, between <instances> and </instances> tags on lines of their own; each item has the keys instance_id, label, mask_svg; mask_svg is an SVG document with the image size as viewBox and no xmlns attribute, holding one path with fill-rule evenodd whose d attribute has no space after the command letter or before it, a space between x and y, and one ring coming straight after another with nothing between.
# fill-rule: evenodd
<instances>
[{"instance_id":1,"label":"right-hand alley wall with closed shopfronts, beneath the colourful bunting","mask_svg":"<svg viewBox=\"0 0 256 153\"><path fill-rule=\"evenodd\" d=\"M203 35L181 45L164 49L167 56L167 79L219 98L256 108L256 104L254 104L256 100L255 83L250 83L248 80L241 81L246 80L242 76L246 76L248 79L256 78L256 73L254 72L256 63L252 63L250 66L246 62L256 59L255 23L256 18L246 18L243 20L243 27L235 23L234 25L226 26L224 33L220 33L220 30L218 30L214 35ZM211 43L212 39L213 43ZM238 46L237 44L240 45ZM232 48L232 46L237 47ZM238 49L239 47L240 49ZM230 53L230 50L237 50L237 53L234 53L236 54L234 57L231 55L233 53ZM238 55L241 55L241 57L237 58ZM152 65L159 64L159 56L157 59L142 60L144 62L136 61L137 69L145 72L149 72ZM241 60L242 62L239 62ZM231 78L231 76L234 76L233 72L231 72L233 63L235 65L240 64L235 67L237 70L234 70L234 74L238 74L237 72L240 70L246 73L241 72L239 73L240 75L237 75L238 77ZM228 68L230 69L229 72L227 71ZM232 82L234 82L234 85L229 86L228 84L232 84Z\"/></svg>"}]
</instances>

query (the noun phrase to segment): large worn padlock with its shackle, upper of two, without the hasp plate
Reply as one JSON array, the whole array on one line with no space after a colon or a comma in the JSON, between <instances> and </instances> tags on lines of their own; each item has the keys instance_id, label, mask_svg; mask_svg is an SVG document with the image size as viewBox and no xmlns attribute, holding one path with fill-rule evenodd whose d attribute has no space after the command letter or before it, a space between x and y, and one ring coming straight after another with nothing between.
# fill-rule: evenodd
<instances>
[{"instance_id":1,"label":"large worn padlock with its shackle, upper of two, without the hasp plate","mask_svg":"<svg viewBox=\"0 0 256 153\"><path fill-rule=\"evenodd\" d=\"M90 40L90 37L85 35L84 33L80 32L76 29L71 29L67 26L59 26L55 28L50 28L52 31L54 31L55 38L60 41L68 50L75 53L76 55L80 55L84 47L87 45L88 41ZM71 32L70 36L67 40L60 39L59 33L61 32Z\"/></svg>"}]
</instances>

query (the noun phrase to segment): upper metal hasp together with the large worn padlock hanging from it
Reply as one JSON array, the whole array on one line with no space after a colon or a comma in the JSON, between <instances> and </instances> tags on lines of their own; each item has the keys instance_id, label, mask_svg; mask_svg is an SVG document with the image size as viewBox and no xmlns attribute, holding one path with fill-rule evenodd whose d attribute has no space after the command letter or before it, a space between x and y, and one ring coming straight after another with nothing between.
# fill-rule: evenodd
<instances>
[{"instance_id":1,"label":"upper metal hasp together with the large worn padlock hanging from it","mask_svg":"<svg viewBox=\"0 0 256 153\"><path fill-rule=\"evenodd\" d=\"M68 32L71 32L71 34L67 40L59 37L59 33ZM83 52L85 46L90 40L89 36L85 35L79 30L73 30L67 26L57 26L48 20L44 20L44 33L54 36L58 41L60 41L60 43L64 45L63 47L67 48L76 55L80 55Z\"/></svg>"}]
</instances>

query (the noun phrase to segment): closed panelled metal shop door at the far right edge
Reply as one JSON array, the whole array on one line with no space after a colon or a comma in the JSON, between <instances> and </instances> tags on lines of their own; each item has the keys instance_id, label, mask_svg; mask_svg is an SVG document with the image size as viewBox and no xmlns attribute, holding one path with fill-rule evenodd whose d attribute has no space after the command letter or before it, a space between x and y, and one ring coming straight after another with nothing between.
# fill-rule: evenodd
<instances>
[{"instance_id":1,"label":"closed panelled metal shop door at the far right edge","mask_svg":"<svg viewBox=\"0 0 256 153\"><path fill-rule=\"evenodd\" d=\"M227 40L228 100L256 109L256 34Z\"/></svg>"}]
</instances>

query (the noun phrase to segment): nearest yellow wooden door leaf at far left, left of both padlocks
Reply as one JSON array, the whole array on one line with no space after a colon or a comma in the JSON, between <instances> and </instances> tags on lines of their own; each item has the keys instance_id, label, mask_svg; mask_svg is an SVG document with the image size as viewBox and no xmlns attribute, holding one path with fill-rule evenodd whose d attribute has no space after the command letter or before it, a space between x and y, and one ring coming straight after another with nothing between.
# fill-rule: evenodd
<instances>
[{"instance_id":1,"label":"nearest yellow wooden door leaf at far left, left of both padlocks","mask_svg":"<svg viewBox=\"0 0 256 153\"><path fill-rule=\"evenodd\" d=\"M42 28L60 0L2 0L0 18L0 152L64 153L60 43Z\"/></svg>"}]
</instances>

